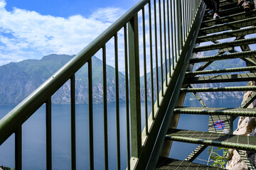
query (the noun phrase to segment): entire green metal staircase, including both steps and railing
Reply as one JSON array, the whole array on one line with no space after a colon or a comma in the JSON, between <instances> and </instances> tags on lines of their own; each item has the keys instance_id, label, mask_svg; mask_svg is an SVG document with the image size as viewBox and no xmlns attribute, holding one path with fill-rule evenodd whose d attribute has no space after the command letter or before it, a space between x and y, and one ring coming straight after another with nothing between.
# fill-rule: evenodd
<instances>
[{"instance_id":1,"label":"entire green metal staircase, including both steps and railing","mask_svg":"<svg viewBox=\"0 0 256 170\"><path fill-rule=\"evenodd\" d=\"M0 145L15 134L15 166L22 169L22 125L38 108L46 105L46 169L53 167L52 162L52 111L51 97L67 81L70 83L70 139L71 168L76 169L76 125L75 125L75 73L81 67L87 69L88 90L88 131L89 163L95 169L95 134L93 127L93 73L92 57L102 55L102 91L104 118L104 168L109 169L109 136L107 116L107 43L114 44L114 72L116 119L111 120L117 127L117 169L120 162L120 115L126 120L127 169L218 169L192 163L208 145L233 149L256 151L256 137L232 135L233 120L236 116L255 116L255 109L247 106L255 100L255 93L242 103L240 108L207 108L197 94L205 91L255 91L255 86L235 86L216 88L194 88L193 84L211 84L217 82L253 81L256 70L256 51L249 45L256 38L245 35L256 33L255 9L245 13L236 6L235 0L220 1L220 16L217 20L205 14L206 5L201 0L142 0L93 40L70 62L53 74L36 91L22 101L14 110L0 120ZM201 27L198 27L201 26ZM139 34L140 33L140 34ZM220 43L218 40L236 38L232 42ZM201 42L211 41L213 45L198 46ZM119 47L119 43L123 47ZM237 52L235 47L242 51ZM122 48L122 50L119 50ZM218 55L196 57L197 52L218 50ZM120 52L121 51L121 52ZM226 54L226 52L230 52ZM124 56L126 111L119 112L119 57ZM205 70L216 60L240 58L247 67ZM146 63L149 62L149 66ZM193 64L205 62L196 71ZM144 67L144 87L141 87L140 64ZM143 66L142 66L143 65ZM147 71L149 69L149 74ZM235 72L235 74L231 74ZM240 72L240 73L239 73ZM214 75L220 74L220 75ZM201 75L198 77L198 75ZM150 79L147 81L147 79ZM150 89L150 90L149 90ZM145 127L142 129L141 93L144 100L151 99L151 113L145 104ZM193 93L200 101L201 108L184 108L186 93ZM210 115L208 132L178 130L180 114ZM223 120L228 133L216 130L213 124ZM113 139L111 139L113 140ZM185 161L170 159L172 141L191 142L199 146ZM102 151L103 152L103 151Z\"/></svg>"}]
</instances>

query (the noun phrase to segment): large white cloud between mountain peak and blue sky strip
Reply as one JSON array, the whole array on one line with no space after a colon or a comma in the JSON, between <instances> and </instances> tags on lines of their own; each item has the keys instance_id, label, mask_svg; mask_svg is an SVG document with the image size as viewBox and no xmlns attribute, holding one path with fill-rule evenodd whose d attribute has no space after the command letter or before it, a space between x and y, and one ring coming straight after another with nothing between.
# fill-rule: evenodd
<instances>
[{"instance_id":1,"label":"large white cloud between mountain peak and blue sky strip","mask_svg":"<svg viewBox=\"0 0 256 170\"><path fill-rule=\"evenodd\" d=\"M6 11L5 6L0 0L0 65L50 53L77 54L124 13L100 8L88 18L62 18L19 8Z\"/></svg>"}]
</instances>

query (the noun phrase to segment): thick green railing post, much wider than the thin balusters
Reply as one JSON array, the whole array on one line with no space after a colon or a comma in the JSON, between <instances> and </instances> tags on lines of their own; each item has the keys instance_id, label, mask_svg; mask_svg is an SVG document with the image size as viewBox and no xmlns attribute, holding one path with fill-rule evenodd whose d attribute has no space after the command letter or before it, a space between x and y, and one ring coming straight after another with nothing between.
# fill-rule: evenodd
<instances>
[{"instance_id":1,"label":"thick green railing post, much wider than the thin balusters","mask_svg":"<svg viewBox=\"0 0 256 170\"><path fill-rule=\"evenodd\" d=\"M132 157L139 158L139 154L142 150L142 126L139 85L139 34L137 14L135 14L128 23L128 40Z\"/></svg>"}]
</instances>

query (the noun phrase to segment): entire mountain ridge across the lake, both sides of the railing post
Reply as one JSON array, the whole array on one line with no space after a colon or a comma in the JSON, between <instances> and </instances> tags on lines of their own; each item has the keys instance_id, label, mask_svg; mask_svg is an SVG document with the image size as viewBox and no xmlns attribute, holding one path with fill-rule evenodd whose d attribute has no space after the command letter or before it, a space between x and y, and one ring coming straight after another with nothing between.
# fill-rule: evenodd
<instances>
[{"instance_id":1,"label":"entire mountain ridge across the lake, both sides of the railing post","mask_svg":"<svg viewBox=\"0 0 256 170\"><path fill-rule=\"evenodd\" d=\"M214 51L213 51L214 52ZM213 55L213 52L210 54ZM22 62L11 62L0 67L0 105L16 105L23 101L29 94L38 88L44 81L58 71L65 63L71 60L75 55L47 55L41 60L24 60ZM230 60L225 62L226 67L231 65L245 66L241 60ZM195 67L198 67L195 65ZM218 69L220 63L214 62L208 69ZM160 68L160 67L159 67ZM165 68L165 67L163 67ZM165 70L164 70L165 73ZM159 91L161 88L161 72L159 69ZM154 100L156 99L156 68L154 75ZM87 64L80 68L75 74L75 98L76 103L88 103L88 85ZM165 77L165 75L164 75ZM141 81L141 100L144 101L144 76ZM146 74L147 98L151 101L151 77ZM230 83L230 86L242 86L246 82ZM206 87L204 84L192 85L194 87ZM211 87L223 86L223 84L210 84ZM92 57L92 90L93 102L103 102L103 84L102 84L102 60ZM223 95L225 94L225 95ZM188 94L193 95L193 94ZM204 100L215 98L242 98L242 92L214 92L199 93ZM124 73L119 72L119 101L125 101L125 77ZM114 67L107 65L107 102L115 102L115 71ZM66 82L52 97L52 103L65 104L70 103L70 81Z\"/></svg>"}]
</instances>

